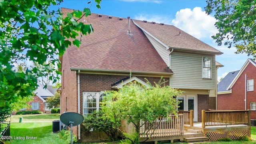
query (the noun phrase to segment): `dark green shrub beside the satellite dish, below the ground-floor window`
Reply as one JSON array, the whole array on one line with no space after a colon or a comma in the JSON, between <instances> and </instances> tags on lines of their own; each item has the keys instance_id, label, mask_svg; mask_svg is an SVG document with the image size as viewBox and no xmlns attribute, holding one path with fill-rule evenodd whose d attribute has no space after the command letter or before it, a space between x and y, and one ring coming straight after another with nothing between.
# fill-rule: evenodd
<instances>
[{"instance_id":1,"label":"dark green shrub beside the satellite dish, below the ground-floor window","mask_svg":"<svg viewBox=\"0 0 256 144\"><path fill-rule=\"evenodd\" d=\"M109 137L111 141L118 140L117 129L121 124L120 121L112 122L110 118L105 117L101 110L88 114L84 117L84 122L82 123L84 128L89 131L93 128L97 131L103 131Z\"/></svg>"}]
</instances>

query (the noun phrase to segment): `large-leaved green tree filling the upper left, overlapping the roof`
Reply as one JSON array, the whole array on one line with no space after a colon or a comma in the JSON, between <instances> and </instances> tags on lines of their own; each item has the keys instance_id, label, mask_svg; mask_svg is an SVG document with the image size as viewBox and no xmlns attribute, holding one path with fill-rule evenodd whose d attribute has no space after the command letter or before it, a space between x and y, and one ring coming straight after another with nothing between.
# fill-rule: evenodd
<instances>
[{"instance_id":1,"label":"large-leaved green tree filling the upper left, overlapping the roof","mask_svg":"<svg viewBox=\"0 0 256 144\"><path fill-rule=\"evenodd\" d=\"M101 0L94 1L96 7L100 8ZM52 71L44 64L46 60L60 67L57 56L62 56L71 44L79 47L79 37L93 32L91 24L78 22L90 14L89 8L84 8L84 13L74 10L63 18L60 9L50 9L50 6L57 6L61 2L63 0L0 1L1 118L11 112L11 104L20 97L32 95L37 88L37 79L43 72ZM12 70L14 63L20 61L37 62L44 70L33 67L25 72L15 72ZM53 83L58 79L58 76L50 77Z\"/></svg>"}]
</instances>

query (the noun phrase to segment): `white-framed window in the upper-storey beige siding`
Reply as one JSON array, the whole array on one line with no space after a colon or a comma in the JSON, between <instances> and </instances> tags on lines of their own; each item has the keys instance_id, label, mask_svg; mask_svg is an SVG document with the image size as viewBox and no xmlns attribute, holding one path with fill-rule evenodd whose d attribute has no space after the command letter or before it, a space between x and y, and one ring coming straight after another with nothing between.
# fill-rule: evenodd
<instances>
[{"instance_id":1,"label":"white-framed window in the upper-storey beige siding","mask_svg":"<svg viewBox=\"0 0 256 144\"><path fill-rule=\"evenodd\" d=\"M211 78L212 71L212 62L211 58L203 57L203 69L202 69L202 77L203 78Z\"/></svg>"}]
</instances>

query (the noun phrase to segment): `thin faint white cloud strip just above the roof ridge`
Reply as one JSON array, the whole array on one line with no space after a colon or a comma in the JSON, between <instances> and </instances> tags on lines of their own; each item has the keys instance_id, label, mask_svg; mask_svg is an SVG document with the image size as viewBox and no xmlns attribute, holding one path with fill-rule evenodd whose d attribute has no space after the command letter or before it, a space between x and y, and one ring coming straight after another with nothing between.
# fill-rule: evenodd
<instances>
[{"instance_id":1,"label":"thin faint white cloud strip just above the roof ridge","mask_svg":"<svg viewBox=\"0 0 256 144\"><path fill-rule=\"evenodd\" d=\"M172 20L168 16L164 15L149 15L149 14L138 14L134 18L135 20L146 20L148 22L171 24Z\"/></svg>"}]
</instances>

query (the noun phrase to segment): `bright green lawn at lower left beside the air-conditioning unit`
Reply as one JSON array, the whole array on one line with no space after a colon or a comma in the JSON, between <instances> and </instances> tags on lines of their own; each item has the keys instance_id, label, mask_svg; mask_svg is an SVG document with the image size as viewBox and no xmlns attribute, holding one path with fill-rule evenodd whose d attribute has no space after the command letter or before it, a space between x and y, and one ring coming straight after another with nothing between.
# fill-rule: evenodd
<instances>
[{"instance_id":1,"label":"bright green lawn at lower left beside the air-conditioning unit","mask_svg":"<svg viewBox=\"0 0 256 144\"><path fill-rule=\"evenodd\" d=\"M52 122L12 122L10 135L12 144L68 144L58 133L52 133ZM36 139L26 139L26 136Z\"/></svg>"}]
</instances>

